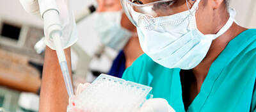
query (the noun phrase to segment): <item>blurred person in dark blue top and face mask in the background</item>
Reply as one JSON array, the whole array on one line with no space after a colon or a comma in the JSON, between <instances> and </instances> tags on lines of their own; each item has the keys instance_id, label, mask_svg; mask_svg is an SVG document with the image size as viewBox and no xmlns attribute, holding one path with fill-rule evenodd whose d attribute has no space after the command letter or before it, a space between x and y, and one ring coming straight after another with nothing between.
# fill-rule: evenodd
<instances>
[{"instance_id":1,"label":"blurred person in dark blue top and face mask in the background","mask_svg":"<svg viewBox=\"0 0 256 112\"><path fill-rule=\"evenodd\" d=\"M122 77L124 70L143 54L136 27L123 12L120 0L98 0L98 4L97 35L102 44L119 52L108 74Z\"/></svg>"}]
</instances>

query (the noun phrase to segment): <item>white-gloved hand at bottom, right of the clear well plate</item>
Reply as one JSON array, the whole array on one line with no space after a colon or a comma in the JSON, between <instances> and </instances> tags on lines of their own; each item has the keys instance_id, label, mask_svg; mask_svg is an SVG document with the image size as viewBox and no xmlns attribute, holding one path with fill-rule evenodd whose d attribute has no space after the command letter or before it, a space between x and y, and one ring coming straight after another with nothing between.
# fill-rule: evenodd
<instances>
[{"instance_id":1,"label":"white-gloved hand at bottom, right of the clear well plate","mask_svg":"<svg viewBox=\"0 0 256 112\"><path fill-rule=\"evenodd\" d=\"M149 99L139 112L175 112L165 99Z\"/></svg>"}]
</instances>

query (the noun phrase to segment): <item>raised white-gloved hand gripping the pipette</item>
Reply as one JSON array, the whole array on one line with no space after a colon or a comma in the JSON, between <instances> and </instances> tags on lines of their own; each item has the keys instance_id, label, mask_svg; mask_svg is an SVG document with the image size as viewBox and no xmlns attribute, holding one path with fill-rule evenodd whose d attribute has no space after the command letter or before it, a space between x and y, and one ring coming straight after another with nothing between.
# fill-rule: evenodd
<instances>
[{"instance_id":1,"label":"raised white-gloved hand gripping the pipette","mask_svg":"<svg viewBox=\"0 0 256 112\"><path fill-rule=\"evenodd\" d=\"M60 2L60 3L58 3ZM65 3L64 0L58 0L57 4L62 4ZM44 12L44 10L47 10L47 6L45 5L40 5L38 3L38 0L20 0L20 4L22 4L24 10L30 14L33 15L40 15L41 13L41 17L43 16L42 14ZM67 5L68 6L68 5ZM41 12L40 12L41 10ZM76 29L76 22L74 20L74 17L72 15L72 13L70 13L71 11L69 10L69 8L59 8L58 9L59 13L62 13L62 16L67 16L67 17L61 17L63 19L63 23L62 23L62 36L61 36L61 44L62 47L64 49L66 49L67 47L70 47L71 45L75 44L77 42L77 29ZM65 24L64 24L65 23ZM54 42L52 40L52 38L48 37L47 34L47 28L45 28L45 44L50 47L51 49L55 50L55 45Z\"/></svg>"}]
</instances>

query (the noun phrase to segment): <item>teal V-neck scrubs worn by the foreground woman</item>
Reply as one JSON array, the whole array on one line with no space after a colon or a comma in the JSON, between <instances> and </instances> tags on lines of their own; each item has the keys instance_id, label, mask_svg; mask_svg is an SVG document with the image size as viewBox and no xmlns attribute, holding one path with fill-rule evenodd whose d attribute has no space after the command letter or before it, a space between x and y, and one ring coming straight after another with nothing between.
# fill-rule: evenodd
<instances>
[{"instance_id":1,"label":"teal V-neck scrubs worn by the foreground woman","mask_svg":"<svg viewBox=\"0 0 256 112\"><path fill-rule=\"evenodd\" d=\"M146 54L124 72L123 79L152 87L154 98L168 100L175 111L185 111L179 68L164 68ZM200 93L188 112L256 112L256 29L231 40L212 63Z\"/></svg>"}]
</instances>

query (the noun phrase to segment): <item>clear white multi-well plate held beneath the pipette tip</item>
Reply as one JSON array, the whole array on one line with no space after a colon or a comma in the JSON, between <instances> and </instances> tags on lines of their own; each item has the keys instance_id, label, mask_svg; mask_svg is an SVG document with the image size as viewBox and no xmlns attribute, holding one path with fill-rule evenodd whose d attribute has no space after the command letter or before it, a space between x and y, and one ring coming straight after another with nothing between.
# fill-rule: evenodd
<instances>
[{"instance_id":1,"label":"clear white multi-well plate held beneath the pipette tip","mask_svg":"<svg viewBox=\"0 0 256 112\"><path fill-rule=\"evenodd\" d=\"M152 97L148 94L151 89L149 86L101 74L72 100L67 111L71 108L90 112L138 111L147 97Z\"/></svg>"}]
</instances>

